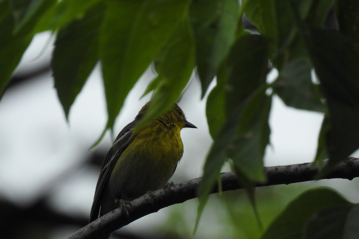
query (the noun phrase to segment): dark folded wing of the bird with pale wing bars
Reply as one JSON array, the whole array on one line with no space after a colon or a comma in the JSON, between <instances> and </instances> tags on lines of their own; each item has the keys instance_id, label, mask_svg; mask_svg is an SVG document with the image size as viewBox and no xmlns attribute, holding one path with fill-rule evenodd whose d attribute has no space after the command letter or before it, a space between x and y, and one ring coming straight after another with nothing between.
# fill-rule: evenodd
<instances>
[{"instance_id":1,"label":"dark folded wing of the bird with pale wing bars","mask_svg":"<svg viewBox=\"0 0 359 239\"><path fill-rule=\"evenodd\" d=\"M132 129L135 124L136 122L132 121L130 124L126 125L125 128L123 128L121 132L117 135L111 148L106 153L95 189L95 196L93 198L92 208L90 212L90 222L94 221L99 216L101 208L101 195L106 186L106 182L109 178L109 175L111 174L113 167L117 162L118 157L120 157L123 150L125 150L130 144Z\"/></svg>"}]
</instances>

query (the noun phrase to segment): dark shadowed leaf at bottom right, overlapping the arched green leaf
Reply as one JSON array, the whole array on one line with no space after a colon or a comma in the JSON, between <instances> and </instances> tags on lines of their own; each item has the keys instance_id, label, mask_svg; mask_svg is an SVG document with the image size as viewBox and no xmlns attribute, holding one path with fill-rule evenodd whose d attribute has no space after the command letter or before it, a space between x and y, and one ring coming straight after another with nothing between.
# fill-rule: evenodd
<instances>
[{"instance_id":1,"label":"dark shadowed leaf at bottom right, overlapping the arched green leaf","mask_svg":"<svg viewBox=\"0 0 359 239\"><path fill-rule=\"evenodd\" d=\"M340 206L320 210L309 219L305 232L306 239L343 239L346 217L353 206ZM359 226L359 225L357 225ZM352 234L353 236L353 234ZM355 237L358 238L359 234Z\"/></svg>"}]
</instances>

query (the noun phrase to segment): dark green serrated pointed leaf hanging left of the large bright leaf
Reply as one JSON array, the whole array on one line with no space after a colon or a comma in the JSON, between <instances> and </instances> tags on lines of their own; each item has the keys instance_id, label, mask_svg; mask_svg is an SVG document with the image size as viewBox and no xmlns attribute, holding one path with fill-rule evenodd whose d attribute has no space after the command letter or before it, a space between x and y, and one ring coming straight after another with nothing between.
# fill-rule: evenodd
<instances>
[{"instance_id":1,"label":"dark green serrated pointed leaf hanging left of the large bright leaf","mask_svg":"<svg viewBox=\"0 0 359 239\"><path fill-rule=\"evenodd\" d=\"M57 34L51 65L66 119L98 61L98 33L104 10L103 4L95 5L83 19L73 21Z\"/></svg>"}]
</instances>

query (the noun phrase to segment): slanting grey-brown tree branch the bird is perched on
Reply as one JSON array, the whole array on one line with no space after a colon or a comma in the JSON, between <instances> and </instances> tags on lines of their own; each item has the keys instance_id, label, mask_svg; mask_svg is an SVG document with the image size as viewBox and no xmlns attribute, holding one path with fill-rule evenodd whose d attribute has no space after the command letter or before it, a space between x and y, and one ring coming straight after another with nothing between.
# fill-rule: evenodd
<instances>
[{"instance_id":1,"label":"slanting grey-brown tree branch the bird is perched on","mask_svg":"<svg viewBox=\"0 0 359 239\"><path fill-rule=\"evenodd\" d=\"M290 183L314 180L318 168L311 165L312 163L301 163L265 167L267 182L257 183L256 187L278 184L288 185ZM359 177L359 159L351 157L341 162L323 179L346 178L352 180L355 177ZM221 173L221 179L223 191L242 188L233 171ZM193 199L197 197L197 187L200 180L201 178L195 178L178 183L167 189L162 188L154 192L148 192L131 201L131 205L127 206L128 217L126 216L127 212L123 212L123 209L119 207L81 228L71 235L69 239L101 238L101 236L107 235L145 215L157 212L164 207ZM218 188L214 187L211 193L216 192L218 192Z\"/></svg>"}]
</instances>

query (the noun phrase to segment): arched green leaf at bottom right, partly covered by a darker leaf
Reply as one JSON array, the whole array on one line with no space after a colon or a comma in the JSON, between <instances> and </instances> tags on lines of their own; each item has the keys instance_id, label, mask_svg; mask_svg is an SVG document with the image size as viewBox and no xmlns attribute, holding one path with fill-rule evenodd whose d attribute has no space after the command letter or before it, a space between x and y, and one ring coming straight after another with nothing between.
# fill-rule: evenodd
<instances>
[{"instance_id":1,"label":"arched green leaf at bottom right, partly covered by a darker leaf","mask_svg":"<svg viewBox=\"0 0 359 239\"><path fill-rule=\"evenodd\" d=\"M261 238L302 239L306 223L315 212L350 205L350 202L330 188L308 190L288 204Z\"/></svg>"}]
</instances>

